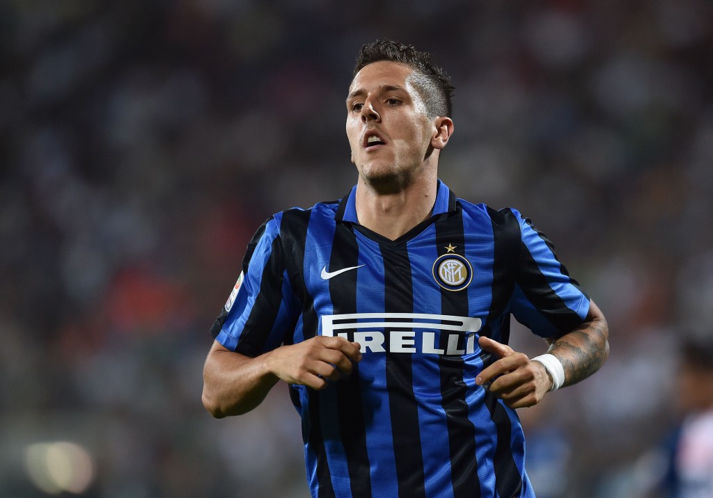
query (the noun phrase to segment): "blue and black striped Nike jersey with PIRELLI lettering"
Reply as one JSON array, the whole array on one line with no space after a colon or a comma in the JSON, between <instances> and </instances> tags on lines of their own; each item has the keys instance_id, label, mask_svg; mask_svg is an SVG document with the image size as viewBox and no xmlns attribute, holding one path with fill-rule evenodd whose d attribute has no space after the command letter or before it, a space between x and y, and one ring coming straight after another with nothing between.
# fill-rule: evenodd
<instances>
[{"instance_id":1,"label":"blue and black striped Nike jersey with PIRELLI lettering","mask_svg":"<svg viewBox=\"0 0 713 498\"><path fill-rule=\"evenodd\" d=\"M514 209L439 181L431 217L392 241L359 225L355 192L270 217L212 335L251 357L318 334L361 344L352 375L290 386L314 497L533 497L515 410L476 386L477 338L508 343L511 314L561 336L588 297Z\"/></svg>"}]
</instances>

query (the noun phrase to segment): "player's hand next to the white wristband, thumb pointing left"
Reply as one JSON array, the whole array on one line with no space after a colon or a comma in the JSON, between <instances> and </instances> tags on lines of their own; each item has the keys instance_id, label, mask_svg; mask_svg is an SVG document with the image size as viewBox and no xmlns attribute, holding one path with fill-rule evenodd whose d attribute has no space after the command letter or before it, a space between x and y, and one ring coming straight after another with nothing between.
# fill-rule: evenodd
<instances>
[{"instance_id":1,"label":"player's hand next to the white wristband, thumb pointing left","mask_svg":"<svg viewBox=\"0 0 713 498\"><path fill-rule=\"evenodd\" d=\"M488 390L510 408L525 408L540 403L552 386L552 379L542 363L530 361L525 353L513 351L510 346L488 337L478 338L478 344L497 356L498 360L478 374L477 385L492 380Z\"/></svg>"}]
</instances>

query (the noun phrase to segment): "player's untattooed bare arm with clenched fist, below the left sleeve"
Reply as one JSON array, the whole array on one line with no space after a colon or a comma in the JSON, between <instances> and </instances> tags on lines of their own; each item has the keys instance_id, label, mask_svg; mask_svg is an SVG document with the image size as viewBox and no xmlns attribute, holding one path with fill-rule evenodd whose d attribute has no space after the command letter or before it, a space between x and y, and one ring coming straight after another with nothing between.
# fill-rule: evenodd
<instances>
[{"instance_id":1,"label":"player's untattooed bare arm with clenched fist, below the left sleeve","mask_svg":"<svg viewBox=\"0 0 713 498\"><path fill-rule=\"evenodd\" d=\"M250 358L214 341L203 367L203 406L216 418L242 415L260 405L278 380L324 389L327 380L352 372L352 363L361 360L359 347L317 336Z\"/></svg>"}]
</instances>

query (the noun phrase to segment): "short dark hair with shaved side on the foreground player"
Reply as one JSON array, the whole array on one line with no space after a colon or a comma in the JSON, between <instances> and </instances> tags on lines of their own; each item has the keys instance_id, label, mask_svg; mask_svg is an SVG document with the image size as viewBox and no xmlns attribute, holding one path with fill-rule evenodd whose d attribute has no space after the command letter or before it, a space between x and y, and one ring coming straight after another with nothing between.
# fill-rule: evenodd
<instances>
[{"instance_id":1,"label":"short dark hair with shaved side on the foreground player","mask_svg":"<svg viewBox=\"0 0 713 498\"><path fill-rule=\"evenodd\" d=\"M366 43L361 47L359 55L356 56L356 66L354 66L352 78L364 66L379 61L398 62L413 68L415 74L421 76L416 78L414 83L426 102L429 118L452 117L451 97L454 87L451 85L451 77L443 69L434 66L429 52L421 52L416 50L413 45L404 45L404 43L391 40L376 40Z\"/></svg>"}]
</instances>

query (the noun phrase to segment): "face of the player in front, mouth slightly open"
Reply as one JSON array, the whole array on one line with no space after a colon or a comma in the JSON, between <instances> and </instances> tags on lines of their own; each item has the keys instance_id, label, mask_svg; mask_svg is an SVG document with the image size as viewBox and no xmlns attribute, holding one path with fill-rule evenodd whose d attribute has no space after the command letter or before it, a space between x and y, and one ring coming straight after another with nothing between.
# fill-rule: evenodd
<instances>
[{"instance_id":1,"label":"face of the player in front, mouth slightly open","mask_svg":"<svg viewBox=\"0 0 713 498\"><path fill-rule=\"evenodd\" d=\"M352 161L369 182L408 182L423 165L436 133L408 66L371 63L356 74L347 97Z\"/></svg>"}]
</instances>

